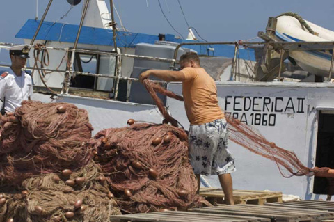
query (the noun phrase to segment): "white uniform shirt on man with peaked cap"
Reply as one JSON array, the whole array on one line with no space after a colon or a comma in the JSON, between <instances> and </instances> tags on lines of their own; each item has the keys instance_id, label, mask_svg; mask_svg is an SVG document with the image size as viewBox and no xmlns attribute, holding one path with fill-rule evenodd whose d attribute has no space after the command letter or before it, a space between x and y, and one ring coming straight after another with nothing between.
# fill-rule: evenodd
<instances>
[{"instance_id":1,"label":"white uniform shirt on man with peaked cap","mask_svg":"<svg viewBox=\"0 0 334 222\"><path fill-rule=\"evenodd\" d=\"M0 76L0 98L5 97L5 111L13 112L21 106L23 100L33 95L33 84L29 74L22 70L18 77L13 70L6 77Z\"/></svg>"}]
</instances>

